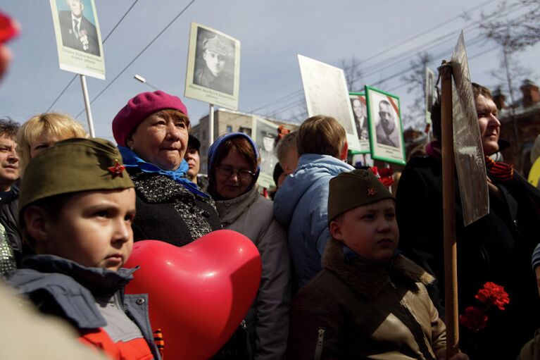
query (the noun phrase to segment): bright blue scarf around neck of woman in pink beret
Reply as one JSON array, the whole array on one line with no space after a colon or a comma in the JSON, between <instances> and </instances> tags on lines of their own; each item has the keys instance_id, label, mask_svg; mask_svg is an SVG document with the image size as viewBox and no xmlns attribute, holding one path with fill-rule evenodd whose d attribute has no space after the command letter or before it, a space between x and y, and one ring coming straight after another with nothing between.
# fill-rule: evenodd
<instances>
[{"instance_id":1,"label":"bright blue scarf around neck of woman in pink beret","mask_svg":"<svg viewBox=\"0 0 540 360\"><path fill-rule=\"evenodd\" d=\"M148 163L143 159L139 158L137 154L135 154L127 147L118 146L118 149L120 150L120 154L122 154L122 158L124 160L124 165L126 168L139 168L139 170L141 170L143 173L158 173L161 175L165 175L167 178L170 178L171 180L184 186L187 190L194 194L197 194L201 197L210 197L205 192L201 192L197 185L195 185L188 178L186 178L187 170L189 170L189 165L187 165L187 162L184 159L182 159L180 166L178 166L176 170L163 170L162 168L153 165L153 163Z\"/></svg>"}]
</instances>

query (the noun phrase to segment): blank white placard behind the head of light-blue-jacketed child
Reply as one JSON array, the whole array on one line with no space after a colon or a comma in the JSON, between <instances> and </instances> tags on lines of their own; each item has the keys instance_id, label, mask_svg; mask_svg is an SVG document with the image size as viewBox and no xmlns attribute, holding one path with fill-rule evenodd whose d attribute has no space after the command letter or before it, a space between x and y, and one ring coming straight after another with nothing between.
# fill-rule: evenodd
<instances>
[{"instance_id":1,"label":"blank white placard behind the head of light-blue-jacketed child","mask_svg":"<svg viewBox=\"0 0 540 360\"><path fill-rule=\"evenodd\" d=\"M340 68L298 56L308 116L335 118L347 134L349 149L360 151L345 74Z\"/></svg>"}]
</instances>

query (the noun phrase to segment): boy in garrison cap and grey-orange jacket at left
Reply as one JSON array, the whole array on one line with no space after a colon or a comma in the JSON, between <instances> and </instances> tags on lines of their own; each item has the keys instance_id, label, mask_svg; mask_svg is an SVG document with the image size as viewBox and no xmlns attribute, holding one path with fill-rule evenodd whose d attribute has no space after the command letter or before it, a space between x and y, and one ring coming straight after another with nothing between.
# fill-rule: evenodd
<instances>
[{"instance_id":1,"label":"boy in garrison cap and grey-orange jacket at left","mask_svg":"<svg viewBox=\"0 0 540 360\"><path fill-rule=\"evenodd\" d=\"M161 359L146 295L123 292L135 270L122 268L133 246L133 187L118 149L103 139L68 139L35 156L19 221L37 255L6 278L111 359Z\"/></svg>"}]
</instances>

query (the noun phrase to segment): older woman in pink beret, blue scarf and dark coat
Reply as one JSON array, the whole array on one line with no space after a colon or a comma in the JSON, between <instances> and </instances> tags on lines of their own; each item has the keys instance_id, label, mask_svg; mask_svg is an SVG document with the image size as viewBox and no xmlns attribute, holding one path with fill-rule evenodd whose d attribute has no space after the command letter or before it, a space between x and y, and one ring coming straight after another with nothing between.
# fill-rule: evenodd
<instances>
[{"instance_id":1,"label":"older woman in pink beret, blue scarf and dark coat","mask_svg":"<svg viewBox=\"0 0 540 360\"><path fill-rule=\"evenodd\" d=\"M211 197L187 180L189 118L180 98L162 91L130 99L113 135L137 190L134 240L189 244L221 228Z\"/></svg>"}]
</instances>

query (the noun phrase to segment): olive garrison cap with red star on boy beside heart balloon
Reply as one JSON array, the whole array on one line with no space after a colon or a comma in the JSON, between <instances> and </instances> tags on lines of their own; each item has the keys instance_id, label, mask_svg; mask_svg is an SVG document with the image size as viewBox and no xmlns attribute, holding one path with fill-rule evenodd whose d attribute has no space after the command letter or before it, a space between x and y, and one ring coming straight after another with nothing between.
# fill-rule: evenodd
<instances>
[{"instance_id":1,"label":"olive garrison cap with red star on boy beside heart balloon","mask_svg":"<svg viewBox=\"0 0 540 360\"><path fill-rule=\"evenodd\" d=\"M67 139L30 161L20 185L19 217L35 201L69 192L134 187L113 143L105 139Z\"/></svg>"}]
</instances>

